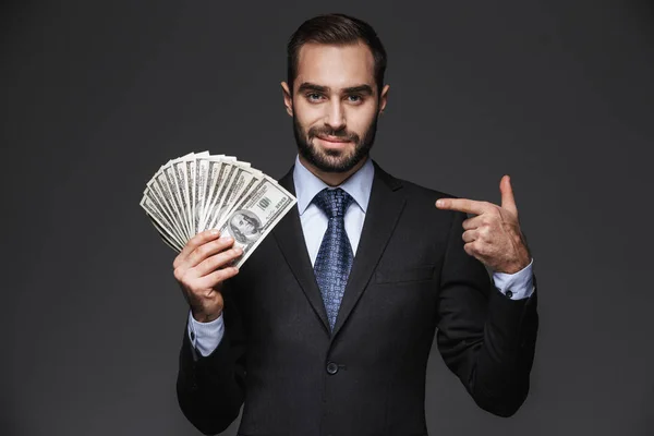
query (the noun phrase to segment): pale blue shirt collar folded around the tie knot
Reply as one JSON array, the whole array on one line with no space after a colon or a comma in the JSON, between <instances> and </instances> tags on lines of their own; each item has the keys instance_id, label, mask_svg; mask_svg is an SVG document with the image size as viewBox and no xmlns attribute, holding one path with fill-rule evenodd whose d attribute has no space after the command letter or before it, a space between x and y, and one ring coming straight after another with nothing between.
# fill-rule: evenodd
<instances>
[{"instance_id":1,"label":"pale blue shirt collar folded around the tie knot","mask_svg":"<svg viewBox=\"0 0 654 436\"><path fill-rule=\"evenodd\" d=\"M371 198L374 175L375 167L373 166L372 159L368 157L363 167L350 175L344 183L334 187L340 187L350 194L365 214ZM331 187L306 169L300 161L299 155L295 156L293 183L295 184L295 195L298 197L298 210L300 211L300 216L304 214L304 210L306 210L318 192L323 191L325 187Z\"/></svg>"}]
</instances>

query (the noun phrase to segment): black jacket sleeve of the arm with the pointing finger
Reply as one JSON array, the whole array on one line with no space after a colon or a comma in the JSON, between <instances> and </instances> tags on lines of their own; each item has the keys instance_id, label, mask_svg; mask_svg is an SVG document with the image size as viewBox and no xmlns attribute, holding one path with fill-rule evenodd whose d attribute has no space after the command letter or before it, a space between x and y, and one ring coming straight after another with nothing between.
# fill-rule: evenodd
<instances>
[{"instance_id":1,"label":"black jacket sleeve of the arm with the pointing finger","mask_svg":"<svg viewBox=\"0 0 654 436\"><path fill-rule=\"evenodd\" d=\"M464 219L453 213L440 274L438 349L482 409L510 416L529 393L538 328L536 280L523 300L495 289L484 265L463 250Z\"/></svg>"}]
</instances>

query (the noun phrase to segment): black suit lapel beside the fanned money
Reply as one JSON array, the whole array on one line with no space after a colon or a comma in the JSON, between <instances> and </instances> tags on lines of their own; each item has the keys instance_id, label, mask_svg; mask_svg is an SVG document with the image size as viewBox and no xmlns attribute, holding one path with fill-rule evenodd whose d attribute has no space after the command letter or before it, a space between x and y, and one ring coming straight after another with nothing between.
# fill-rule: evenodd
<instances>
[{"instance_id":1,"label":"black suit lapel beside the fanned money","mask_svg":"<svg viewBox=\"0 0 654 436\"><path fill-rule=\"evenodd\" d=\"M296 195L295 184L293 183L293 167L291 167L291 170L279 180L279 184L291 194ZM275 235L277 244L287 263L291 267L293 275L298 279L302 291L304 291L304 294L316 315L323 322L325 331L329 335L327 311L325 310L323 295L318 288L318 283L316 282L316 277L311 265L311 258L308 257L308 252L306 250L306 242L304 241L304 232L302 231L302 223L300 222L298 205L293 206L277 226L275 226L272 234Z\"/></svg>"}]
</instances>

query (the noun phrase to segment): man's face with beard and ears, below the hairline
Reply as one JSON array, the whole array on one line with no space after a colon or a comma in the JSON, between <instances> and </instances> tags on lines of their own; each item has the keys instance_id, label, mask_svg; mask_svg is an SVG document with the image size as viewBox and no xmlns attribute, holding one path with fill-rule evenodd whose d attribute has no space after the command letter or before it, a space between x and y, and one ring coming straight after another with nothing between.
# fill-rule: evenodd
<instances>
[{"instance_id":1,"label":"man's face with beard and ears, below the hairline","mask_svg":"<svg viewBox=\"0 0 654 436\"><path fill-rule=\"evenodd\" d=\"M305 44L300 49L287 110L300 155L322 171L347 172L367 156L375 140L379 98L374 58L364 44Z\"/></svg>"}]
</instances>

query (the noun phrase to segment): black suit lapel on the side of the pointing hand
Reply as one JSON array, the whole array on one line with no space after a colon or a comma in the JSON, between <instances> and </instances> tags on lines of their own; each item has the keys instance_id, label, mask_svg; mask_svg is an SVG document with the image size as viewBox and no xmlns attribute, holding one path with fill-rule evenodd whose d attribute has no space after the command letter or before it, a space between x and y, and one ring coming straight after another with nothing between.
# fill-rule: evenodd
<instances>
[{"instance_id":1,"label":"black suit lapel on the side of the pointing hand","mask_svg":"<svg viewBox=\"0 0 654 436\"><path fill-rule=\"evenodd\" d=\"M373 161L373 164L375 165L375 178L371 199L368 201L352 270L334 326L332 339L363 294L405 203L401 182L379 168L377 162Z\"/></svg>"}]
</instances>

